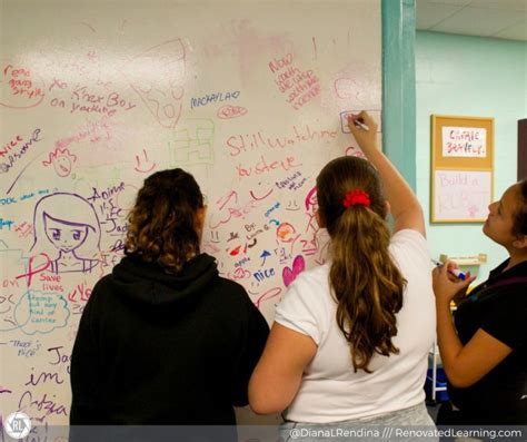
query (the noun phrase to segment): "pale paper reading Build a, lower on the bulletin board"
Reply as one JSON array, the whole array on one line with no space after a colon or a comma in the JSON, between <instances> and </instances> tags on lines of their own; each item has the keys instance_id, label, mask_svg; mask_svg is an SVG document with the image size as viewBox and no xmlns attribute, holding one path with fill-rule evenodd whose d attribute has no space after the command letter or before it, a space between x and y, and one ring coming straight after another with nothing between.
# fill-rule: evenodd
<instances>
[{"instance_id":1,"label":"pale paper reading Build a, lower on the bulletin board","mask_svg":"<svg viewBox=\"0 0 527 442\"><path fill-rule=\"evenodd\" d=\"M435 171L434 220L485 220L491 203L491 173Z\"/></svg>"}]
</instances>

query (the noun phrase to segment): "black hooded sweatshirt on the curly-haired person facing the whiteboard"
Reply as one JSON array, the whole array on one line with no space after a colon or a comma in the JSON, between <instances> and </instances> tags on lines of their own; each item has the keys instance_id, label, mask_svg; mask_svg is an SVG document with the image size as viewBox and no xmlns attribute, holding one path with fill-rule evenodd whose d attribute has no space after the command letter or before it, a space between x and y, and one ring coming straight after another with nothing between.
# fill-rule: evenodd
<instances>
[{"instance_id":1,"label":"black hooded sweatshirt on the curly-haired person facing the whiteboard","mask_svg":"<svg viewBox=\"0 0 527 442\"><path fill-rule=\"evenodd\" d=\"M125 257L93 287L71 356L70 424L236 424L269 327L201 254L177 276Z\"/></svg>"}]
</instances>

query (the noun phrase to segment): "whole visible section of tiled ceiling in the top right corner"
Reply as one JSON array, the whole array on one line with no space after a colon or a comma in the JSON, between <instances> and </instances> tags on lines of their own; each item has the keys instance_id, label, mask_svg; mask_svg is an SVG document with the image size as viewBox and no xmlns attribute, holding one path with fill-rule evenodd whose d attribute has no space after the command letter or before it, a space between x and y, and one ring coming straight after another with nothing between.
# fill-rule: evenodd
<instances>
[{"instance_id":1,"label":"whole visible section of tiled ceiling in the top right corner","mask_svg":"<svg viewBox=\"0 0 527 442\"><path fill-rule=\"evenodd\" d=\"M417 29L527 41L527 0L416 0Z\"/></svg>"}]
</instances>

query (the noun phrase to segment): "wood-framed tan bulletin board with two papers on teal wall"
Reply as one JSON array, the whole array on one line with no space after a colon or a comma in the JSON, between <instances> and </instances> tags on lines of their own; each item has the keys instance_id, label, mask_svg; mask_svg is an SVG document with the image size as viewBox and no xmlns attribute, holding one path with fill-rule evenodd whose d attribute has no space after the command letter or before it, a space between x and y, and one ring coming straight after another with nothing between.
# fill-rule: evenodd
<instances>
[{"instance_id":1,"label":"wood-framed tan bulletin board with two papers on teal wall","mask_svg":"<svg viewBox=\"0 0 527 442\"><path fill-rule=\"evenodd\" d=\"M493 202L494 118L431 116L431 223L480 223Z\"/></svg>"}]
</instances>

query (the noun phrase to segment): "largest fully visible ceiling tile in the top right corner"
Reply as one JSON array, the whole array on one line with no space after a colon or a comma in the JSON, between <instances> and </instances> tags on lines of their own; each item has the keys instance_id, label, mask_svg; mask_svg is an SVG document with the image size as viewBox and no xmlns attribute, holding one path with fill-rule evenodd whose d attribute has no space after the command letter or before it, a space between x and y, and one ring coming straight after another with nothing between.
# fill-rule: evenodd
<instances>
[{"instance_id":1,"label":"largest fully visible ceiling tile in the top right corner","mask_svg":"<svg viewBox=\"0 0 527 442\"><path fill-rule=\"evenodd\" d=\"M430 30L468 36L493 36L518 22L517 11L466 7Z\"/></svg>"}]
</instances>

